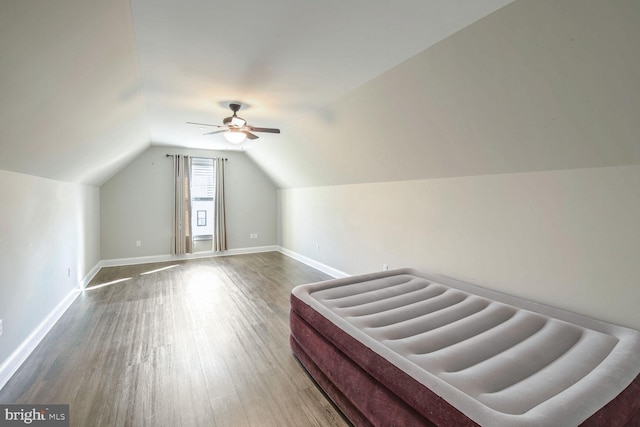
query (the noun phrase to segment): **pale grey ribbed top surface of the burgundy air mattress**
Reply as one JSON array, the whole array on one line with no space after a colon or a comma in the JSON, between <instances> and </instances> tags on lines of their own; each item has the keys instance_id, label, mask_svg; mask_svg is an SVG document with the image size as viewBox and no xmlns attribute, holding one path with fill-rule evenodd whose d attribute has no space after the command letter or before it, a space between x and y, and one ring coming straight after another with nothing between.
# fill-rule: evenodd
<instances>
[{"instance_id":1,"label":"pale grey ribbed top surface of the burgundy air mattress","mask_svg":"<svg viewBox=\"0 0 640 427\"><path fill-rule=\"evenodd\" d=\"M293 294L487 426L575 426L640 373L640 332L410 269Z\"/></svg>"}]
</instances>

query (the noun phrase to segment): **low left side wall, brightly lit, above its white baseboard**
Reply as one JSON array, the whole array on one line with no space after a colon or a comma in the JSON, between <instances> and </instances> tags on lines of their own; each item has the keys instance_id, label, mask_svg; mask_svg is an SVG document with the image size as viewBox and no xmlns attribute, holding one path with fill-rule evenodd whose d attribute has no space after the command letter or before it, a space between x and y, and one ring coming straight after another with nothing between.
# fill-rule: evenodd
<instances>
[{"instance_id":1,"label":"low left side wall, brightly lit, above its white baseboard","mask_svg":"<svg viewBox=\"0 0 640 427\"><path fill-rule=\"evenodd\" d=\"M0 366L100 260L93 186L0 170Z\"/></svg>"}]
</instances>

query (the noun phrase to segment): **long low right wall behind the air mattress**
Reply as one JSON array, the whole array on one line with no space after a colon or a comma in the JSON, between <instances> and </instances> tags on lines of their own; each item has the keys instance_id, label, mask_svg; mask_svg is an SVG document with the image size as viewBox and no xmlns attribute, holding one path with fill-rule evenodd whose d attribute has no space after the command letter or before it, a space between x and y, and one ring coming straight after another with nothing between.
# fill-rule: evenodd
<instances>
[{"instance_id":1,"label":"long low right wall behind the air mattress","mask_svg":"<svg viewBox=\"0 0 640 427\"><path fill-rule=\"evenodd\" d=\"M346 273L414 267L640 329L640 166L279 198L282 246Z\"/></svg>"}]
</instances>

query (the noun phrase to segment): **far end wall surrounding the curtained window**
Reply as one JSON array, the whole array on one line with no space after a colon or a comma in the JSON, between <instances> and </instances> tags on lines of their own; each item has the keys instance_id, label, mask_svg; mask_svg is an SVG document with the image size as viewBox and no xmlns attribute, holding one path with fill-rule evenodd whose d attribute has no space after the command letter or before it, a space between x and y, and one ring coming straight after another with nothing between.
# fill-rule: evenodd
<instances>
[{"instance_id":1,"label":"far end wall surrounding the curtained window","mask_svg":"<svg viewBox=\"0 0 640 427\"><path fill-rule=\"evenodd\" d=\"M225 169L229 249L277 243L276 187L244 152L151 147L101 187L102 259L170 254L173 166L167 153L229 159ZM250 239L252 233L258 238ZM136 247L137 240L142 246Z\"/></svg>"}]
</instances>

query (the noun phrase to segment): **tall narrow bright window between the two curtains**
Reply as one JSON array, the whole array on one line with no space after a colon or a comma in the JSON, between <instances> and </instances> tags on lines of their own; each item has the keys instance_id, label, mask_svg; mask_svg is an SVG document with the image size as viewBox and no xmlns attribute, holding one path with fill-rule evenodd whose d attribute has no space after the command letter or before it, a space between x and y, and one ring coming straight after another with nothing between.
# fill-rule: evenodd
<instances>
[{"instance_id":1,"label":"tall narrow bright window between the two curtains","mask_svg":"<svg viewBox=\"0 0 640 427\"><path fill-rule=\"evenodd\" d=\"M191 228L193 240L213 238L213 159L191 158Z\"/></svg>"}]
</instances>

